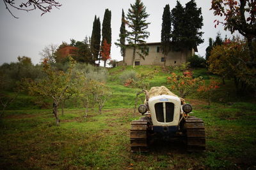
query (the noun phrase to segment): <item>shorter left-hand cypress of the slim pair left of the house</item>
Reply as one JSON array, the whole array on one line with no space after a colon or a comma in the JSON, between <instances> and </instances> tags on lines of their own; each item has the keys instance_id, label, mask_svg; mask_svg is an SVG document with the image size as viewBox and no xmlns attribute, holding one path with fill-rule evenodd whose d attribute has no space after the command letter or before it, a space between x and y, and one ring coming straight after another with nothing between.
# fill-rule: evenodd
<instances>
[{"instance_id":1,"label":"shorter left-hand cypress of the slim pair left of the house","mask_svg":"<svg viewBox=\"0 0 256 170\"><path fill-rule=\"evenodd\" d=\"M91 38L91 50L92 50L92 64L95 64L95 60L99 59L100 52L100 18L95 15L92 28L92 38Z\"/></svg>"}]
</instances>

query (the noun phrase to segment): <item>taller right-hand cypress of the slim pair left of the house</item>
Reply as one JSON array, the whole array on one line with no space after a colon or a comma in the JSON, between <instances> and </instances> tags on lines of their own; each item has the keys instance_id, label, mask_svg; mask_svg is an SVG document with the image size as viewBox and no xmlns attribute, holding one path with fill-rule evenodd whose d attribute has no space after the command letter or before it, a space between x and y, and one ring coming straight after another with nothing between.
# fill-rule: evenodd
<instances>
[{"instance_id":1,"label":"taller right-hand cypress of the slim pair left of the house","mask_svg":"<svg viewBox=\"0 0 256 170\"><path fill-rule=\"evenodd\" d=\"M106 39L109 48L109 54L111 50L111 11L106 9L104 13L104 18L102 22L102 41L101 46L103 46L103 42ZM106 67L106 60L104 60L104 67Z\"/></svg>"}]
</instances>

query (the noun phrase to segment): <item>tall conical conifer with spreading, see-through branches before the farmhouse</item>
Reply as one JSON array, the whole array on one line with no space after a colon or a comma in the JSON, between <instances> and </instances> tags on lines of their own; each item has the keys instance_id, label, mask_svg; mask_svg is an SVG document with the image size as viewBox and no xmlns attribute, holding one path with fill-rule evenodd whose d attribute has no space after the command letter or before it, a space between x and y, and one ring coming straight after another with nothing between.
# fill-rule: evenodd
<instances>
[{"instance_id":1,"label":"tall conical conifer with spreading, see-through branches before the farmhouse","mask_svg":"<svg viewBox=\"0 0 256 170\"><path fill-rule=\"evenodd\" d=\"M135 67L135 53L136 48L142 50L142 53L138 53L140 57L144 59L145 55L148 55L148 52L145 46L146 41L144 39L148 38L149 32L146 31L148 25L150 23L146 22L148 17L148 13L146 12L146 7L141 2L141 0L136 0L134 4L131 4L131 8L129 8L127 13L127 24L131 31L126 32L127 41L129 46L133 48L132 53L132 65Z\"/></svg>"}]
</instances>

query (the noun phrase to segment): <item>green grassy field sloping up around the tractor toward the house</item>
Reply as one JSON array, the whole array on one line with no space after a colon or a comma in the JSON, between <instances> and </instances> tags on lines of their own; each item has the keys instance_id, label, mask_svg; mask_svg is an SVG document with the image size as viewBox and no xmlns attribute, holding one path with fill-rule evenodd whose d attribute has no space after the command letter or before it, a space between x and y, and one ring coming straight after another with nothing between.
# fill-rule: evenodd
<instances>
[{"instance_id":1,"label":"green grassy field sloping up around the tractor toward the house","mask_svg":"<svg viewBox=\"0 0 256 170\"><path fill-rule=\"evenodd\" d=\"M150 86L166 85L168 72L161 67L136 67L138 73L148 69L155 71ZM186 99L193 104L193 114L204 120L206 152L187 153L180 141L155 141L149 153L131 153L130 123L140 117L133 117L132 106L140 89L120 84L122 71L123 67L109 71L113 97L101 115L90 110L84 118L83 109L65 109L57 127L52 110L7 110L0 122L0 169L256 168L255 103L237 98L231 81L218 89L211 106L200 97ZM202 69L195 74L209 76Z\"/></svg>"}]
</instances>

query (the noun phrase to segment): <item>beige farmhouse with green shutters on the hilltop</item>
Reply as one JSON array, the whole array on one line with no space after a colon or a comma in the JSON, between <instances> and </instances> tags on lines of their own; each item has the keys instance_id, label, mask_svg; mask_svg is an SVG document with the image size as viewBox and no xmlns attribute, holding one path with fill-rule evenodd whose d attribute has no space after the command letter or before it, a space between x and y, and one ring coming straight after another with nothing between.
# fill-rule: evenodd
<instances>
[{"instance_id":1,"label":"beige farmhouse with green shutters on the hilltop","mask_svg":"<svg viewBox=\"0 0 256 170\"><path fill-rule=\"evenodd\" d=\"M153 65L153 66L164 66L164 54L162 52L161 43L147 43L148 55L145 57L145 60L140 57L138 53L135 55L135 66L143 65ZM139 52L137 50L137 52ZM192 48L191 50L180 50L174 51L171 50L168 55L166 55L166 66L179 66L180 64L187 62L188 58L191 55L194 55L197 52ZM125 49L124 62L126 66L132 65L132 53L133 48L127 47ZM118 62L118 66L122 66L123 61Z\"/></svg>"}]
</instances>

